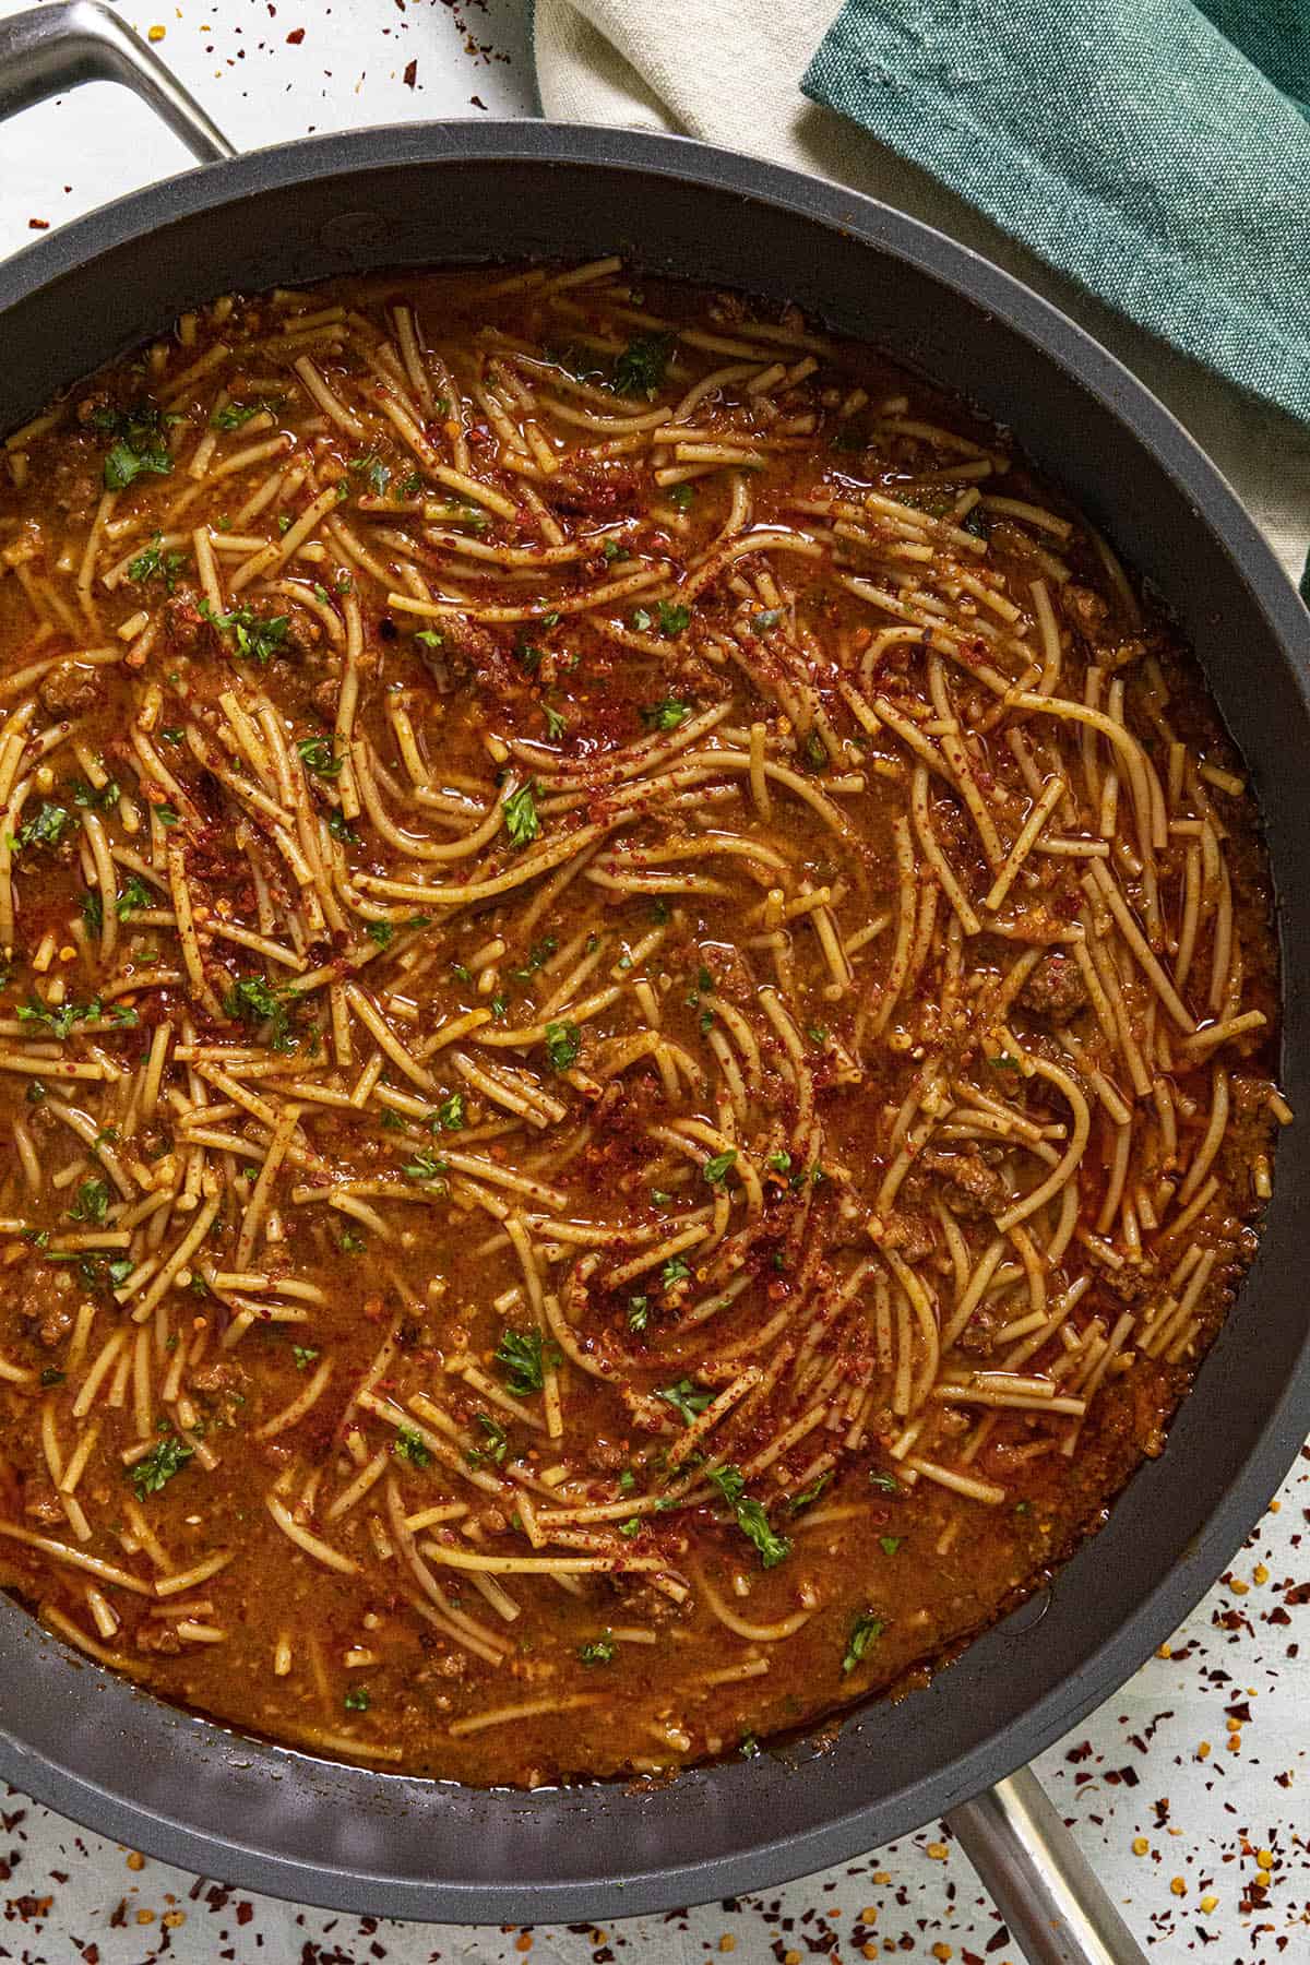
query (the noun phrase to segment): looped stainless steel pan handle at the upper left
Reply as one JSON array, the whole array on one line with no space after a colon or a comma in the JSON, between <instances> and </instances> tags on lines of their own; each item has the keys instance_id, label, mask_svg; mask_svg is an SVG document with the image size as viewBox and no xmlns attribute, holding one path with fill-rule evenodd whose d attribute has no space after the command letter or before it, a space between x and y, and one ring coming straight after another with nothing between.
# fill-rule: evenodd
<instances>
[{"instance_id":1,"label":"looped stainless steel pan handle at the upper left","mask_svg":"<svg viewBox=\"0 0 1310 1965\"><path fill-rule=\"evenodd\" d=\"M134 88L200 163L236 157L194 96L100 0L57 0L0 20L0 122L79 83L100 81Z\"/></svg>"}]
</instances>

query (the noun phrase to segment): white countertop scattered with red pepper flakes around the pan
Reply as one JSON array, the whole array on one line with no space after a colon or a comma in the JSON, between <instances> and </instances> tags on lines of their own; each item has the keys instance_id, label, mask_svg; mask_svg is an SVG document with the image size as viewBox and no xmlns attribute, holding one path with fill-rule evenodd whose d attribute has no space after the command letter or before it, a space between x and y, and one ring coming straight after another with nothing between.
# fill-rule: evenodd
<instances>
[{"instance_id":1,"label":"white countertop scattered with red pepper flakes around the pan","mask_svg":"<svg viewBox=\"0 0 1310 1965\"><path fill-rule=\"evenodd\" d=\"M18 12L0 0L0 16ZM530 114L522 0L198 0L124 8L238 145L432 116ZM92 84L0 128L0 253L187 165L126 92ZM1288 460L1304 481L1306 452ZM1231 466L1229 466L1231 468ZM1310 1961L1310 1450L1249 1546L1155 1658L1039 1772L1147 1953ZM1302 1655L1304 1647L1304 1655ZM0 1808L0 1959L22 1965L803 1965L898 1955L1019 1965L933 1825L860 1863L668 1918L501 1930L389 1924L242 1896Z\"/></svg>"}]
</instances>

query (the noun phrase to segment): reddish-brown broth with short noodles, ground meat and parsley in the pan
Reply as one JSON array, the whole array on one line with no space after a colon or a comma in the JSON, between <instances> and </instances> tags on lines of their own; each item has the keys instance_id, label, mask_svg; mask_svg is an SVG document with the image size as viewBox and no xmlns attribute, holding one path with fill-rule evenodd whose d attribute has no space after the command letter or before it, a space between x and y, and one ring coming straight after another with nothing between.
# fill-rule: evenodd
<instances>
[{"instance_id":1,"label":"reddish-brown broth with short noodles, ground meat and parsley in the pan","mask_svg":"<svg viewBox=\"0 0 1310 1965\"><path fill-rule=\"evenodd\" d=\"M605 261L224 299L4 458L53 1631L328 1755L658 1772L1102 1521L1290 1114L1241 764L1002 432Z\"/></svg>"}]
</instances>

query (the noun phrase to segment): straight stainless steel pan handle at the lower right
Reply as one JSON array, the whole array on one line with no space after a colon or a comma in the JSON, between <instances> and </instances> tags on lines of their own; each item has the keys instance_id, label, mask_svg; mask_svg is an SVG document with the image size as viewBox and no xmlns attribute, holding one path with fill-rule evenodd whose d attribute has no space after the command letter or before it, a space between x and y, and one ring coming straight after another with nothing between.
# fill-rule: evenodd
<instances>
[{"instance_id":1,"label":"straight stainless steel pan handle at the lower right","mask_svg":"<svg viewBox=\"0 0 1310 1965\"><path fill-rule=\"evenodd\" d=\"M1029 1965L1145 1965L1031 1767L947 1816Z\"/></svg>"}]
</instances>

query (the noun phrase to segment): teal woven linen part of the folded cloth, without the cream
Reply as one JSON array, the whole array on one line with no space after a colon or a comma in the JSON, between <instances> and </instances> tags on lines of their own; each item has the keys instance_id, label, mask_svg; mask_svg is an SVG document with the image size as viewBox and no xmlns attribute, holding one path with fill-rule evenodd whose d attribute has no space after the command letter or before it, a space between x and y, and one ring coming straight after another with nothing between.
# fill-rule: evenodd
<instances>
[{"instance_id":1,"label":"teal woven linen part of the folded cloth, without the cream","mask_svg":"<svg viewBox=\"0 0 1310 1965\"><path fill-rule=\"evenodd\" d=\"M1310 0L846 0L803 88L1310 421Z\"/></svg>"}]
</instances>

